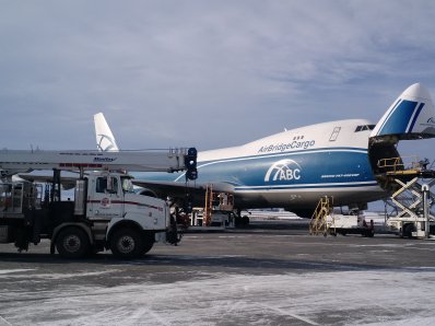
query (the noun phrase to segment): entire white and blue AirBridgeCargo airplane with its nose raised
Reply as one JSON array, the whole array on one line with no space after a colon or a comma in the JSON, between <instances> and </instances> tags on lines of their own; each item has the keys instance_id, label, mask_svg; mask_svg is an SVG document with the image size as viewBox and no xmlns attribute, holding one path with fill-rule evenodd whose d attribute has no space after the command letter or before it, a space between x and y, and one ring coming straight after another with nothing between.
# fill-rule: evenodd
<instances>
[{"instance_id":1,"label":"entire white and blue AirBridgeCargo airplane with its nose raised","mask_svg":"<svg viewBox=\"0 0 435 326\"><path fill-rule=\"evenodd\" d=\"M102 150L117 150L102 114L95 115ZM198 179L189 188L203 194L208 184L234 195L235 208L284 208L309 218L320 197L336 206L364 209L388 196L377 175L380 159L399 158L399 140L435 137L435 110L428 92L409 86L381 119L338 120L285 130L239 147L198 153ZM111 140L111 141L108 141ZM158 197L185 196L185 174L133 174L136 184ZM146 191L146 190L145 190Z\"/></svg>"}]
</instances>

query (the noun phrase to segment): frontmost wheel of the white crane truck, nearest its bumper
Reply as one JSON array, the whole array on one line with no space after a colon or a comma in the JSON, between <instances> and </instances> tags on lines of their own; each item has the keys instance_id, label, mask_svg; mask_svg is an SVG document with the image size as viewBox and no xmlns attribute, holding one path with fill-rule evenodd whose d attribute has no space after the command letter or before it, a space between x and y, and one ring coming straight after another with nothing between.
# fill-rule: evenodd
<instances>
[{"instance_id":1,"label":"frontmost wheel of the white crane truck, nearest its bumper","mask_svg":"<svg viewBox=\"0 0 435 326\"><path fill-rule=\"evenodd\" d=\"M110 238L111 253L119 258L138 258L143 255L143 248L140 233L134 229L119 229Z\"/></svg>"}]
</instances>

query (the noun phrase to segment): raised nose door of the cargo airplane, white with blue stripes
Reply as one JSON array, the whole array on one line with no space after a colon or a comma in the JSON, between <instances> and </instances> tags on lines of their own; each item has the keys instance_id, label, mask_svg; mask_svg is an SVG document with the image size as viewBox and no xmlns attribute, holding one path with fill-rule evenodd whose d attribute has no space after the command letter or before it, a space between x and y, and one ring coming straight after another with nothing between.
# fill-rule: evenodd
<instances>
[{"instance_id":1,"label":"raised nose door of the cargo airplane, white with blue stripes","mask_svg":"<svg viewBox=\"0 0 435 326\"><path fill-rule=\"evenodd\" d=\"M431 95L420 83L404 90L373 129L378 140L411 140L435 137L435 109Z\"/></svg>"}]
</instances>

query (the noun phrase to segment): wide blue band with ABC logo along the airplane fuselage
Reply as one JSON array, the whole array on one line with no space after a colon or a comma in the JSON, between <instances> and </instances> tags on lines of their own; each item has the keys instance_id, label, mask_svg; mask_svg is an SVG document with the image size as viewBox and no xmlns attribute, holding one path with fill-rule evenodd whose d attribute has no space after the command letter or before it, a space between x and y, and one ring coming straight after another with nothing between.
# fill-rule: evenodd
<instances>
[{"instance_id":1,"label":"wide blue band with ABC logo along the airplane fuselage","mask_svg":"<svg viewBox=\"0 0 435 326\"><path fill-rule=\"evenodd\" d=\"M268 171L269 179L266 179ZM367 149L362 148L311 149L207 161L198 164L198 174L199 183L228 183L236 190L377 185ZM145 178L174 181L174 175L150 173ZM177 174L176 181L184 182L184 174Z\"/></svg>"}]
</instances>

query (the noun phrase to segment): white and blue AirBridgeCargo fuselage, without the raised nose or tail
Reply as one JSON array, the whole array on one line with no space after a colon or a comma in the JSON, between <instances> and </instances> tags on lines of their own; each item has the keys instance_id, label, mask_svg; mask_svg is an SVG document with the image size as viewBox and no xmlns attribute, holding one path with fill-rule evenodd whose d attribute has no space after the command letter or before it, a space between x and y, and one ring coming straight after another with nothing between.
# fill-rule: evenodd
<instances>
[{"instance_id":1,"label":"white and blue AirBridgeCargo fuselage, without the raised nose or tail","mask_svg":"<svg viewBox=\"0 0 435 326\"><path fill-rule=\"evenodd\" d=\"M333 197L334 205L377 200L386 193L376 182L368 158L371 128L367 120L340 120L199 152L197 183L231 185L237 208L313 211L322 196ZM185 175L175 181L184 183Z\"/></svg>"}]
</instances>

